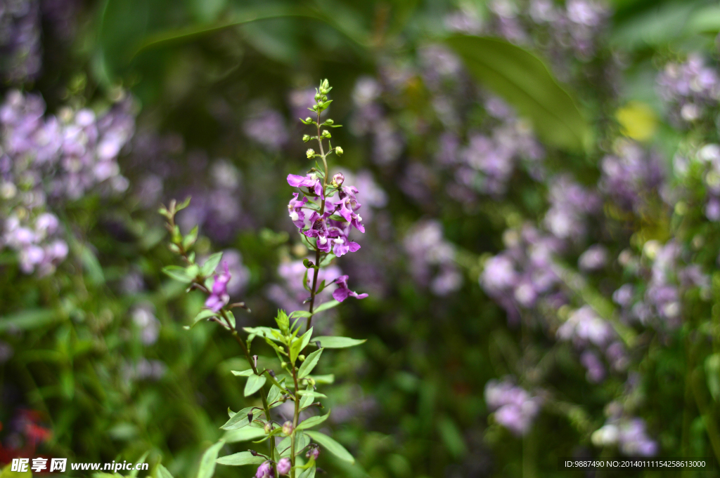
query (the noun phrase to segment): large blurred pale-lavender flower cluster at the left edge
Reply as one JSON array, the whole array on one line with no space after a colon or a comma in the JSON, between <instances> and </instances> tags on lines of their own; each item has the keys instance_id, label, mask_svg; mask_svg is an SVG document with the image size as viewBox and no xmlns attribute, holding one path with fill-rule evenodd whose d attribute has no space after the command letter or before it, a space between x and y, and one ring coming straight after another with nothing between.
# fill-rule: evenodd
<instances>
[{"instance_id":1,"label":"large blurred pale-lavender flower cluster at the left edge","mask_svg":"<svg viewBox=\"0 0 720 478\"><path fill-rule=\"evenodd\" d=\"M102 116L65 109L45 117L40 96L11 91L0 106L0 245L19 254L25 273L53 272L68 254L58 217L49 211L89 190L121 192L117 156L132 136L129 104Z\"/></svg>"}]
</instances>

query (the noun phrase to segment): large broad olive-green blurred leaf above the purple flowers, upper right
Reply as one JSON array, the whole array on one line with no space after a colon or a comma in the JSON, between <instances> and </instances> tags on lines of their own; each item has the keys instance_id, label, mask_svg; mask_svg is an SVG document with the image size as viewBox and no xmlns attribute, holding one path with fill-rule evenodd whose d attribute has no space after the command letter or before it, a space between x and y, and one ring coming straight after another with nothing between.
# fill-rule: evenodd
<instances>
[{"instance_id":1,"label":"large broad olive-green blurred leaf above the purple flowers, upper right","mask_svg":"<svg viewBox=\"0 0 720 478\"><path fill-rule=\"evenodd\" d=\"M471 35L446 39L469 72L515 106L548 144L582 152L590 144L590 127L570 93L538 57L504 40Z\"/></svg>"}]
</instances>

